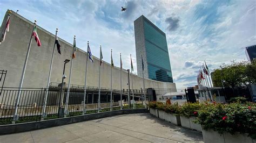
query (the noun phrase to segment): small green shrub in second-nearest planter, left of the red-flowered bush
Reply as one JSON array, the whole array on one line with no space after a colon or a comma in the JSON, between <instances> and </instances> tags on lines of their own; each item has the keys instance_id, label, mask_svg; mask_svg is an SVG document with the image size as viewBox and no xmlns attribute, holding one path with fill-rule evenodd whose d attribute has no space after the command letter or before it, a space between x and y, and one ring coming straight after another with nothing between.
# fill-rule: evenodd
<instances>
[{"instance_id":1,"label":"small green shrub in second-nearest planter, left of the red-flowered bush","mask_svg":"<svg viewBox=\"0 0 256 143\"><path fill-rule=\"evenodd\" d=\"M186 103L183 104L180 108L180 115L185 117L197 117L198 110L203 106L199 103Z\"/></svg>"}]
</instances>

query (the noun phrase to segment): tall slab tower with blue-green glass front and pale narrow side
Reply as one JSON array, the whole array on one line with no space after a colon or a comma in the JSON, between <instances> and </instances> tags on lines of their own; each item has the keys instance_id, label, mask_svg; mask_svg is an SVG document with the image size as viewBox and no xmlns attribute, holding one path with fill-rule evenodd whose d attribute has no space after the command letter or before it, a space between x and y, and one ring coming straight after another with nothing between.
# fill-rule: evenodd
<instances>
[{"instance_id":1,"label":"tall slab tower with blue-green glass front and pale narrow side","mask_svg":"<svg viewBox=\"0 0 256 143\"><path fill-rule=\"evenodd\" d=\"M173 83L166 35L144 16L134 21L138 75L156 81Z\"/></svg>"}]
</instances>

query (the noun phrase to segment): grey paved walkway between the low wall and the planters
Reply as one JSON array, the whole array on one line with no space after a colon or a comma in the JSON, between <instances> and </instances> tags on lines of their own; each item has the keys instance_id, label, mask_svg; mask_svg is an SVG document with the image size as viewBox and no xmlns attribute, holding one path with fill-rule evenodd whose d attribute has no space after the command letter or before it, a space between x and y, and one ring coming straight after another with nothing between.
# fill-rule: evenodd
<instances>
[{"instance_id":1,"label":"grey paved walkway between the low wall and the planters","mask_svg":"<svg viewBox=\"0 0 256 143\"><path fill-rule=\"evenodd\" d=\"M203 135L136 113L1 135L0 142L203 142Z\"/></svg>"}]
</instances>

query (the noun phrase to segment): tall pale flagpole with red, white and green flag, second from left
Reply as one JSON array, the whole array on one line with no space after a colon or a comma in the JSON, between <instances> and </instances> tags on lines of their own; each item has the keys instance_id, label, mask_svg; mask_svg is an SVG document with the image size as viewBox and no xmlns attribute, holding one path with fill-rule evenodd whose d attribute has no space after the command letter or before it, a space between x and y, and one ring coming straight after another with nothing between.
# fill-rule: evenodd
<instances>
[{"instance_id":1,"label":"tall pale flagpole with red, white and green flag, second from left","mask_svg":"<svg viewBox=\"0 0 256 143\"><path fill-rule=\"evenodd\" d=\"M33 30L34 30L35 26L36 26L36 20L35 20L35 23L34 23L34 26L33 26ZM32 34L33 34L33 30L32 30ZM18 91L18 96L16 98L16 103L15 103L14 120L19 119L19 116L17 115L18 105L19 105L19 99L21 98L21 89L22 89L24 75L25 75L25 71L26 71L26 65L27 65L28 59L29 59L29 52L30 52L31 43L32 43L32 34L31 34L30 41L29 41L28 51L26 52L26 59L25 59L25 62L24 62L23 70L22 70L21 81L19 82L19 91Z\"/></svg>"}]
</instances>

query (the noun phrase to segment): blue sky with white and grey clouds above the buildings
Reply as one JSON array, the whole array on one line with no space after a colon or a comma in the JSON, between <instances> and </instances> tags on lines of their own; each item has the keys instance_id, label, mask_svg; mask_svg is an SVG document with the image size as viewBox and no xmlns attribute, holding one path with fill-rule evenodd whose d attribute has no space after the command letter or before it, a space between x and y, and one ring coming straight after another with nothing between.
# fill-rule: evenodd
<instances>
[{"instance_id":1,"label":"blue sky with white and grey clouds above the buildings","mask_svg":"<svg viewBox=\"0 0 256 143\"><path fill-rule=\"evenodd\" d=\"M121 6L127 8L121 12ZM137 73L133 22L144 15L166 33L173 80L178 88L197 84L198 70L206 61L210 71L231 60L247 60L245 47L256 44L255 0L22 0L0 1L0 21L7 9L19 10L26 19L37 20L45 30L115 66ZM39 35L40 36L40 35Z\"/></svg>"}]
</instances>

